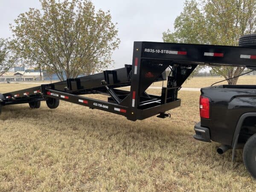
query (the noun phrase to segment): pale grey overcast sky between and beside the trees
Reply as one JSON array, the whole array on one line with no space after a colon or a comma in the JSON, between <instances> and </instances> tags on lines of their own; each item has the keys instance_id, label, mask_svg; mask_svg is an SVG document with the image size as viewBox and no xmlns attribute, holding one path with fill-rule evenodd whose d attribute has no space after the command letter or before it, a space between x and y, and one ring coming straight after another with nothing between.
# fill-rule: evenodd
<instances>
[{"instance_id":1,"label":"pale grey overcast sky between and beside the trees","mask_svg":"<svg viewBox=\"0 0 256 192\"><path fill-rule=\"evenodd\" d=\"M131 64L134 41L162 42L162 33L173 31L185 0L92 0L96 9L110 10L118 23L119 49L113 53L115 68ZM9 23L30 7L40 9L39 0L0 0L0 38L11 37Z\"/></svg>"}]
</instances>

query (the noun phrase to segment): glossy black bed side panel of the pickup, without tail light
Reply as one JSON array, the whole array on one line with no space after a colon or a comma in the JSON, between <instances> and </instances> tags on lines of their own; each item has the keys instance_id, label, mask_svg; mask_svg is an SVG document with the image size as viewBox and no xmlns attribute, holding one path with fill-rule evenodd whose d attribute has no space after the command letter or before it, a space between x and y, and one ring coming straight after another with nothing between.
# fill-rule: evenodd
<instances>
[{"instance_id":1,"label":"glossy black bed side panel of the pickup, without tail light","mask_svg":"<svg viewBox=\"0 0 256 192\"><path fill-rule=\"evenodd\" d=\"M210 118L201 118L200 126L209 129L212 141L231 146L240 116L256 112L256 86L205 87L201 96L210 99Z\"/></svg>"}]
</instances>

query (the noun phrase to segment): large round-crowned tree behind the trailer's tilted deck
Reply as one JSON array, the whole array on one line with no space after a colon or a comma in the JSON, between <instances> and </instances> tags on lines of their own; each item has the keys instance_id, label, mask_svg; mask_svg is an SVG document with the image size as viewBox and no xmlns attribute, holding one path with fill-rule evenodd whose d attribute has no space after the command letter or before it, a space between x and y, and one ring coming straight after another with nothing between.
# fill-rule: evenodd
<instances>
[{"instance_id":1,"label":"large round-crowned tree behind the trailer's tilted deck","mask_svg":"<svg viewBox=\"0 0 256 192\"><path fill-rule=\"evenodd\" d=\"M40 0L11 26L13 49L38 69L76 78L108 67L120 41L110 12L95 12L90 0Z\"/></svg>"}]
</instances>

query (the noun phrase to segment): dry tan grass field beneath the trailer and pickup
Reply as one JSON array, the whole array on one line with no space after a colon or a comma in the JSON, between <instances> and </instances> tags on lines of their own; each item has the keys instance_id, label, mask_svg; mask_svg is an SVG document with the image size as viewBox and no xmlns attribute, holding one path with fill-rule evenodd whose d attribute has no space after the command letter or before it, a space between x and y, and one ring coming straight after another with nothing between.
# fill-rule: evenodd
<instances>
[{"instance_id":1,"label":"dry tan grass field beneath the trailer and pickup","mask_svg":"<svg viewBox=\"0 0 256 192\"><path fill-rule=\"evenodd\" d=\"M0 84L0 92L33 86ZM0 191L255 191L241 150L232 163L231 151L221 156L217 143L192 138L199 95L180 91L171 119L136 122L67 102L3 107Z\"/></svg>"}]
</instances>

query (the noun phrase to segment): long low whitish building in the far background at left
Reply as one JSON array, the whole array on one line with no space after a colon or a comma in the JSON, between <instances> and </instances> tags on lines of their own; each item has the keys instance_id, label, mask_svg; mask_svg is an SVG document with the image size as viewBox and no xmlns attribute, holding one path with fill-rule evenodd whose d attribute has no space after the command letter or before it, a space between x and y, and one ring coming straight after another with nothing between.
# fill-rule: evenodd
<instances>
[{"instance_id":1,"label":"long low whitish building in the far background at left","mask_svg":"<svg viewBox=\"0 0 256 192\"><path fill-rule=\"evenodd\" d=\"M44 79L43 73L42 79ZM40 81L40 72L35 72L35 70L6 72L0 76L0 81Z\"/></svg>"}]
</instances>

